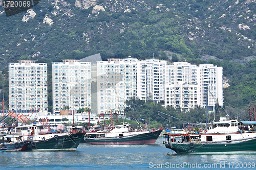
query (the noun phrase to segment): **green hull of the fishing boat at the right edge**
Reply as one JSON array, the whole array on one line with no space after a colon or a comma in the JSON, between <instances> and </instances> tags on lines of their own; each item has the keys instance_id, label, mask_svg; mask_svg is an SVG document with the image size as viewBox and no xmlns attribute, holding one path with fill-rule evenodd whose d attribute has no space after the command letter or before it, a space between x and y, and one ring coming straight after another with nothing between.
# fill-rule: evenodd
<instances>
[{"instance_id":1,"label":"green hull of the fishing boat at the right edge","mask_svg":"<svg viewBox=\"0 0 256 170\"><path fill-rule=\"evenodd\" d=\"M178 143L166 142L165 147L178 154L244 154L256 153L256 138L228 143Z\"/></svg>"}]
</instances>

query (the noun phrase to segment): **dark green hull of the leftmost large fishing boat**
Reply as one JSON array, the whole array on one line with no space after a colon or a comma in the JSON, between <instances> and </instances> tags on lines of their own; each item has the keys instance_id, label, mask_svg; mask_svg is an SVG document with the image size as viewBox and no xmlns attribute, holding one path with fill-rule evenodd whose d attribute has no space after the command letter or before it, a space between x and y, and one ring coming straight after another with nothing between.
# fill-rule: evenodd
<instances>
[{"instance_id":1,"label":"dark green hull of the leftmost large fishing boat","mask_svg":"<svg viewBox=\"0 0 256 170\"><path fill-rule=\"evenodd\" d=\"M84 137L85 133L75 133L52 137L48 140L32 141L28 146L24 146L22 151L75 151Z\"/></svg>"}]
</instances>

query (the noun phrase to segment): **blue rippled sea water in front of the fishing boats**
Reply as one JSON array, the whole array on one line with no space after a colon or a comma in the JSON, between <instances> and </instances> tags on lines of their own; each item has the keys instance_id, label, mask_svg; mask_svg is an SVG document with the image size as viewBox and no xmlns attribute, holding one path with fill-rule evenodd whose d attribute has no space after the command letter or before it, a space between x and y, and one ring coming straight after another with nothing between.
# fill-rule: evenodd
<instances>
[{"instance_id":1,"label":"blue rippled sea water in front of the fishing boats","mask_svg":"<svg viewBox=\"0 0 256 170\"><path fill-rule=\"evenodd\" d=\"M255 154L178 155L163 140L155 145L80 143L77 151L1 152L0 169L256 169Z\"/></svg>"}]
</instances>

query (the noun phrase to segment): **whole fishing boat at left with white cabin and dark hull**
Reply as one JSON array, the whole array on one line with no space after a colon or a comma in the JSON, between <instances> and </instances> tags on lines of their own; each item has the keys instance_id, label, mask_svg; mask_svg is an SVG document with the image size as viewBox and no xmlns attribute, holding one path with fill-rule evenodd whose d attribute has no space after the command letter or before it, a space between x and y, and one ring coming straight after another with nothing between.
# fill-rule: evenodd
<instances>
[{"instance_id":1,"label":"whole fishing boat at left with white cabin and dark hull","mask_svg":"<svg viewBox=\"0 0 256 170\"><path fill-rule=\"evenodd\" d=\"M8 148L7 151L59 151L76 150L85 133L66 132L63 125L51 131L42 124L30 124L16 127L11 134L21 137L4 142L2 147Z\"/></svg>"}]
</instances>

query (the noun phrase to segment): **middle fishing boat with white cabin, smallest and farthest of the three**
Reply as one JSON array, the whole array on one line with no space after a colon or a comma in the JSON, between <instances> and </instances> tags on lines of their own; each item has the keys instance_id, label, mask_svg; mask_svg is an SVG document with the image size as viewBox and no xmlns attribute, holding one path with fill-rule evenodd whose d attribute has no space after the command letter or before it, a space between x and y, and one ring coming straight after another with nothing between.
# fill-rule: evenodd
<instances>
[{"instance_id":1,"label":"middle fishing boat with white cabin, smallest and farthest of the three","mask_svg":"<svg viewBox=\"0 0 256 170\"><path fill-rule=\"evenodd\" d=\"M132 129L134 125L123 124L111 126L111 130L87 132L81 142L91 144L155 144L163 131Z\"/></svg>"}]
</instances>

